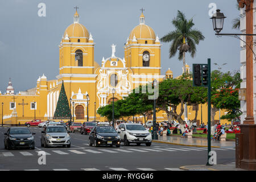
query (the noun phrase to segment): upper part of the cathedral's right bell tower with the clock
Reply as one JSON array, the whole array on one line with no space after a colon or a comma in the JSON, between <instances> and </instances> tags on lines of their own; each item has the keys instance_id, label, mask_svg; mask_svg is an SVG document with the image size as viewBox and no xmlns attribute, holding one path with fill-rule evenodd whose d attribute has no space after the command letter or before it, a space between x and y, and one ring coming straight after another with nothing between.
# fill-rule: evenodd
<instances>
[{"instance_id":1,"label":"upper part of the cathedral's right bell tower with the clock","mask_svg":"<svg viewBox=\"0 0 256 182\"><path fill-rule=\"evenodd\" d=\"M145 16L139 17L139 25L133 28L125 44L127 67L134 74L151 73L160 75L160 41L154 30L145 23Z\"/></svg>"}]
</instances>

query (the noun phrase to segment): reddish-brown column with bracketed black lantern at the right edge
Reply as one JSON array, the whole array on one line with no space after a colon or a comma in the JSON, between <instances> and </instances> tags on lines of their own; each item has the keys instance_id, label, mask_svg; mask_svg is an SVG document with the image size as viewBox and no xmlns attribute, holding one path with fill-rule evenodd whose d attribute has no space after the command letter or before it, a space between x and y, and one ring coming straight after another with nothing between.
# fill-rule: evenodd
<instances>
[{"instance_id":1,"label":"reddish-brown column with bracketed black lantern at the right edge","mask_svg":"<svg viewBox=\"0 0 256 182\"><path fill-rule=\"evenodd\" d=\"M253 51L253 34L254 29L254 0L237 0L240 8L245 7L246 12L246 34L220 34L223 29L224 19L226 18L220 10L217 10L212 16L213 29L216 31L217 36L233 36L240 39L246 44L246 118L241 125L241 134L236 134L236 168L243 169L256 169L255 163L255 150L256 141L255 137L252 137L256 133L256 125L254 123L254 98L253 98L253 55L256 59L256 55ZM242 40L239 36L246 36L246 41Z\"/></svg>"}]
</instances>

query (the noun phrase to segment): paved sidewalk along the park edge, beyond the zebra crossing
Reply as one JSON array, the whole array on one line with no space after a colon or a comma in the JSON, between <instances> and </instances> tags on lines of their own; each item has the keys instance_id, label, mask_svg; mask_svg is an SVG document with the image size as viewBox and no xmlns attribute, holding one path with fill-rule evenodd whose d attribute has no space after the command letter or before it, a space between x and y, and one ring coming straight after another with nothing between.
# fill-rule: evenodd
<instances>
[{"instance_id":1,"label":"paved sidewalk along the park edge, beyond the zebra crossing","mask_svg":"<svg viewBox=\"0 0 256 182\"><path fill-rule=\"evenodd\" d=\"M174 136L159 136L158 140L152 140L153 142L159 143L169 143L169 144L177 144L181 146L193 146L193 147L207 147L208 140L201 139L201 138L181 138L181 137L174 137ZM234 141L211 141L212 147L221 147L221 148L235 148L236 142Z\"/></svg>"}]
</instances>

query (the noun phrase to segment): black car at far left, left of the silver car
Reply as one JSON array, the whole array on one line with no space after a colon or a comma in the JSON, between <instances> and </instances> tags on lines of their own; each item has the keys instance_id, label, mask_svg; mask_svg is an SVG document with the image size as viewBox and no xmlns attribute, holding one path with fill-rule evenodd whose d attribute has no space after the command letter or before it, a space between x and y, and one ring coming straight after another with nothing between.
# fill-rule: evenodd
<instances>
[{"instance_id":1,"label":"black car at far left, left of the silver car","mask_svg":"<svg viewBox=\"0 0 256 182\"><path fill-rule=\"evenodd\" d=\"M35 139L31 131L26 127L10 127L5 133L5 149L31 148L35 149Z\"/></svg>"}]
</instances>

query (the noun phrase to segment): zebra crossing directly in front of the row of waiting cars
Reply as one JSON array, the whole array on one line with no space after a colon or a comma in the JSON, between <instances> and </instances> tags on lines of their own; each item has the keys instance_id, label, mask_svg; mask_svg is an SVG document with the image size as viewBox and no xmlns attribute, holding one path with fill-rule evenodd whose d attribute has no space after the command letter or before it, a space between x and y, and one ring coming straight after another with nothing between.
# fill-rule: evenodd
<instances>
[{"instance_id":1,"label":"zebra crossing directly in front of the row of waiting cars","mask_svg":"<svg viewBox=\"0 0 256 182\"><path fill-rule=\"evenodd\" d=\"M102 154L102 153L109 153L109 154L117 154L118 152L122 153L134 153L134 152L189 152L189 151L206 151L208 150L206 147L163 147L160 146L155 147L123 147L123 148L92 148L92 149L73 149L70 150L61 150L61 149L52 149L52 150L33 150L33 151L4 151L0 152L1 157L14 157L17 155L23 156L33 156L39 155L39 152L44 152L46 155L69 155L69 154L77 154L77 155L84 155L84 154ZM212 148L213 151L228 151L233 150L233 148ZM42 153L40 153L42 154Z\"/></svg>"}]
</instances>

